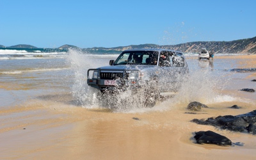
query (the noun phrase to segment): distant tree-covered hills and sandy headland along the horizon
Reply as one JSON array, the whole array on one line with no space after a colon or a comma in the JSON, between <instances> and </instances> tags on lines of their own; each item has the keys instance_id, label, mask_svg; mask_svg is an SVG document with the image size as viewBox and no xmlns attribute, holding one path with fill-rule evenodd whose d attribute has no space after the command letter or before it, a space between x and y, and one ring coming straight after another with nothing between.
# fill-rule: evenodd
<instances>
[{"instance_id":1,"label":"distant tree-covered hills and sandy headland along the horizon","mask_svg":"<svg viewBox=\"0 0 256 160\"><path fill-rule=\"evenodd\" d=\"M1 48L6 49L37 49L33 45L19 44L12 45L10 47L6 47L4 45L0 45ZM233 40L229 42L225 41L210 41L210 42L187 42L184 44L177 45L156 45L156 44L140 44L140 45L128 45L128 46L120 46L120 47L92 47L92 48L84 48L81 49L75 45L61 45L56 49L81 49L86 51L124 51L125 49L150 49L150 48L163 48L163 49L174 49L182 52L198 52L202 47L205 47L209 51L215 53L248 53L248 54L256 54L256 36L253 38L246 38L241 40Z\"/></svg>"}]
</instances>

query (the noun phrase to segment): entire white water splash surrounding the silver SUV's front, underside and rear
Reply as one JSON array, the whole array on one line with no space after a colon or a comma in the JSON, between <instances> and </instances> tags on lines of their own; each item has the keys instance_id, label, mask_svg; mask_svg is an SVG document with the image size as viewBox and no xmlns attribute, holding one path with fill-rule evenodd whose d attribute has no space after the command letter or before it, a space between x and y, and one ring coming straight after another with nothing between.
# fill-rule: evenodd
<instances>
[{"instance_id":1,"label":"entire white water splash surrounding the silver SUV's front, underside and rear","mask_svg":"<svg viewBox=\"0 0 256 160\"><path fill-rule=\"evenodd\" d=\"M90 56L88 56L90 55ZM115 59L115 58L111 58ZM68 63L74 71L74 84L72 85L72 95L77 104L84 108L109 108L116 112L133 113L145 111L163 111L176 108L182 104L188 104L192 101L198 101L205 104L233 100L232 96L220 95L225 83L221 80L221 72L214 72L211 67L193 70L189 77L180 76L181 88L175 97L157 102L154 108L144 108L143 92L132 92L129 87L127 90L122 88L115 90L113 96L109 97L108 92L103 97L99 97L99 91L86 84L86 74L89 68L97 68L108 65L109 57L92 56L92 54L83 51L69 50ZM97 61L98 63L95 63ZM196 61L197 62L197 61ZM198 65L192 64L193 66ZM208 69L207 69L208 68ZM217 74L217 75L216 75ZM227 77L225 77L227 79ZM184 81L185 80L185 81ZM172 84L167 86L172 87ZM166 87L166 86L164 86Z\"/></svg>"}]
</instances>

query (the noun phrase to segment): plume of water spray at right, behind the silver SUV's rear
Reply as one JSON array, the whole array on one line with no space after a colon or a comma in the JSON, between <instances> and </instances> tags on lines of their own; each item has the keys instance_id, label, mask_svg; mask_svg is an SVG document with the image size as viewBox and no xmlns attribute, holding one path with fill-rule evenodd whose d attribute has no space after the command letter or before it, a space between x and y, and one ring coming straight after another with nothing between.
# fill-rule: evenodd
<instances>
[{"instance_id":1,"label":"plume of water spray at right, behind the silver SUV's rear","mask_svg":"<svg viewBox=\"0 0 256 160\"><path fill-rule=\"evenodd\" d=\"M232 101L235 99L232 95L221 93L229 81L225 72L212 70L211 67L193 70L173 100L180 104L193 101L204 104Z\"/></svg>"}]
</instances>

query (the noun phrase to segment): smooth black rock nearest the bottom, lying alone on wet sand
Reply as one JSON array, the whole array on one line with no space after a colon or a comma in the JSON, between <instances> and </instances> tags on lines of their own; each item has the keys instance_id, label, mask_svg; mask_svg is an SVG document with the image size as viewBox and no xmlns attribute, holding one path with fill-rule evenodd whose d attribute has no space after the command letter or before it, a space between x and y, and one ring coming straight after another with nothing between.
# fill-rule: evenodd
<instances>
[{"instance_id":1,"label":"smooth black rock nearest the bottom, lying alone on wet sand","mask_svg":"<svg viewBox=\"0 0 256 160\"><path fill-rule=\"evenodd\" d=\"M200 131L196 132L194 138L196 139L196 143L202 144L214 144L214 145L232 145L232 141L230 141L227 137L221 136L220 134L212 131Z\"/></svg>"}]
</instances>

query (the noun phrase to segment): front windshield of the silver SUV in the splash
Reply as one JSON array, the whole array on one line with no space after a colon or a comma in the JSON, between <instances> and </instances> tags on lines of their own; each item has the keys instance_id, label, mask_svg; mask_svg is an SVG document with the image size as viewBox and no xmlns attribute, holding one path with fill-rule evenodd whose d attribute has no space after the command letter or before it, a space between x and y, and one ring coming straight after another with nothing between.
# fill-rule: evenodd
<instances>
[{"instance_id":1,"label":"front windshield of the silver SUV in the splash","mask_svg":"<svg viewBox=\"0 0 256 160\"><path fill-rule=\"evenodd\" d=\"M118 56L114 65L157 65L157 51L125 51Z\"/></svg>"}]
</instances>

